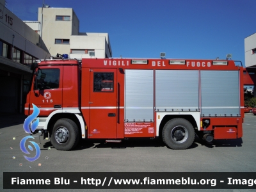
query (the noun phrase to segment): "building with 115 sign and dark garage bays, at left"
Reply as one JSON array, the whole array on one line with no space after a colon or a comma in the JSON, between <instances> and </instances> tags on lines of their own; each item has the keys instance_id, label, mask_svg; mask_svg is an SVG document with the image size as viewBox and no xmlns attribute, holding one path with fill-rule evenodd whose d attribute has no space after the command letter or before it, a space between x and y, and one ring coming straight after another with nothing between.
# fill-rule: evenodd
<instances>
[{"instance_id":1,"label":"building with 115 sign and dark garage bays, at left","mask_svg":"<svg viewBox=\"0 0 256 192\"><path fill-rule=\"evenodd\" d=\"M30 65L50 54L40 36L0 0L0 113L21 113L32 71Z\"/></svg>"}]
</instances>

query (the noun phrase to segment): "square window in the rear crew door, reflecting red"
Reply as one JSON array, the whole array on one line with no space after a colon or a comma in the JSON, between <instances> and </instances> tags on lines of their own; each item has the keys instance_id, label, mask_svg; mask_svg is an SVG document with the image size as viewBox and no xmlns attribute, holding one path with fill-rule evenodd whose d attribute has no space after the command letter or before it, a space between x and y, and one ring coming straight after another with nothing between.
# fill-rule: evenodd
<instances>
[{"instance_id":1,"label":"square window in the rear crew door, reflecting red","mask_svg":"<svg viewBox=\"0 0 256 192\"><path fill-rule=\"evenodd\" d=\"M94 72L93 92L113 92L114 73Z\"/></svg>"}]
</instances>

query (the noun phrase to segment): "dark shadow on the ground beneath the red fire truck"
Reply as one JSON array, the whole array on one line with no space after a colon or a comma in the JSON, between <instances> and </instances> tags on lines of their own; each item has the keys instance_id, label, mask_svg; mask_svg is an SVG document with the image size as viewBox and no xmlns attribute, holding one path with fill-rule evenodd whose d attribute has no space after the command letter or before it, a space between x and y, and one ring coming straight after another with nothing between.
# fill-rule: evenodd
<instances>
[{"instance_id":1,"label":"dark shadow on the ground beneath the red fire truck","mask_svg":"<svg viewBox=\"0 0 256 192\"><path fill-rule=\"evenodd\" d=\"M207 143L201 140L197 136L195 137L195 142L188 148L193 149L198 146L205 146L207 148L214 147L242 147L243 140L214 140L212 143ZM47 142L44 148L54 148L51 142ZM83 139L80 140L77 147L73 150L84 150L86 148L136 148L136 147L166 147L164 142L160 138L150 140L148 138L131 138L129 140L122 140L120 143L106 143L106 140L96 140L96 139Z\"/></svg>"}]
</instances>

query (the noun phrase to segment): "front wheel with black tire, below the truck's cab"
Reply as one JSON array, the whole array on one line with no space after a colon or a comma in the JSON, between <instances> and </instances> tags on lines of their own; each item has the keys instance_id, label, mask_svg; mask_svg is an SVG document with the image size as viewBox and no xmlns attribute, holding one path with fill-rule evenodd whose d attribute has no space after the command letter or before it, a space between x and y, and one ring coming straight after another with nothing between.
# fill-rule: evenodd
<instances>
[{"instance_id":1,"label":"front wheel with black tire, below the truck's cab","mask_svg":"<svg viewBox=\"0 0 256 192\"><path fill-rule=\"evenodd\" d=\"M76 123L68 118L61 118L53 126L51 143L58 150L71 150L79 142L79 130Z\"/></svg>"}]
</instances>

